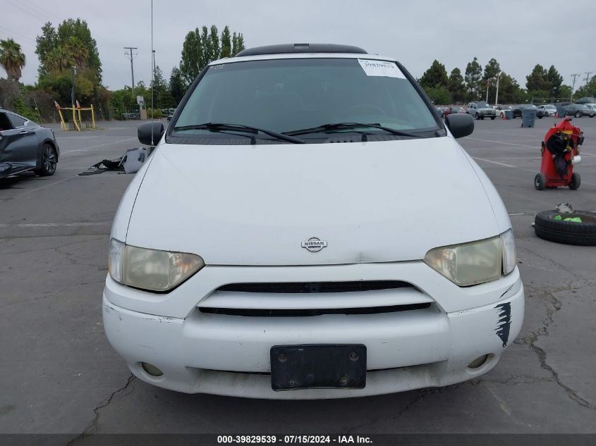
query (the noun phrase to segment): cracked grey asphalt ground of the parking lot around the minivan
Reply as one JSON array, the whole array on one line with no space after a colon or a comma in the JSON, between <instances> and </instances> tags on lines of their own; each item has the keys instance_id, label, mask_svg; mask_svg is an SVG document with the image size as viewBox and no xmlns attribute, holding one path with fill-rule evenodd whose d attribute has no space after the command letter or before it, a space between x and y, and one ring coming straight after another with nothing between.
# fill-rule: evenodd
<instances>
[{"instance_id":1,"label":"cracked grey asphalt ground of the parking lot around the minivan","mask_svg":"<svg viewBox=\"0 0 596 446\"><path fill-rule=\"evenodd\" d=\"M101 311L111 221L133 175L78 173L140 145L138 123L56 130L56 175L0 182L0 433L75 444L87 433L596 433L596 248L532 228L559 202L596 209L596 119L573 120L585 132L580 189L537 191L553 122L475 121L461 140L509 210L525 285L521 334L497 367L447 388L327 401L184 395L133 378Z\"/></svg>"}]
</instances>

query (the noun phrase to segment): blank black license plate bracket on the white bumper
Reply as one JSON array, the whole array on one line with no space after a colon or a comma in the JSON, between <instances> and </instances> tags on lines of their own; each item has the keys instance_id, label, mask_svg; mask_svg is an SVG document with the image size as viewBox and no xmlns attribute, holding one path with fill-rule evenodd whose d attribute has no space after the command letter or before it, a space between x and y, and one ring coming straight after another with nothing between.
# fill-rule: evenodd
<instances>
[{"instance_id":1,"label":"blank black license plate bracket on the white bumper","mask_svg":"<svg viewBox=\"0 0 596 446\"><path fill-rule=\"evenodd\" d=\"M366 346L362 344L275 345L270 350L271 388L363 389Z\"/></svg>"}]
</instances>

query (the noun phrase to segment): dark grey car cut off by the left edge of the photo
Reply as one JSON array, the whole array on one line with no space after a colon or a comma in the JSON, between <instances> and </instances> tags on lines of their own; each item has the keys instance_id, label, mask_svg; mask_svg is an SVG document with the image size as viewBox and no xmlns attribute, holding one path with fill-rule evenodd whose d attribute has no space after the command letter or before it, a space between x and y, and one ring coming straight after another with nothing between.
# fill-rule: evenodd
<instances>
[{"instance_id":1,"label":"dark grey car cut off by the left edge of the photo","mask_svg":"<svg viewBox=\"0 0 596 446\"><path fill-rule=\"evenodd\" d=\"M0 109L0 178L26 171L54 175L59 155L51 129Z\"/></svg>"}]
</instances>

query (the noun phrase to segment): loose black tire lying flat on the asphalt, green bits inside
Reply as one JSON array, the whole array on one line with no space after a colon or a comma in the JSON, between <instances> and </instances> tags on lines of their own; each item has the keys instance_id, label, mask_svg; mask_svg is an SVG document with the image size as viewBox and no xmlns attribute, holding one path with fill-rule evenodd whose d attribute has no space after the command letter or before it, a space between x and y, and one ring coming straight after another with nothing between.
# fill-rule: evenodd
<instances>
[{"instance_id":1,"label":"loose black tire lying flat on the asphalt, green bits inside","mask_svg":"<svg viewBox=\"0 0 596 446\"><path fill-rule=\"evenodd\" d=\"M534 231L542 239L564 244L596 246L596 212L575 211L564 217L580 217L581 223L554 220L557 211L542 211L534 219Z\"/></svg>"}]
</instances>

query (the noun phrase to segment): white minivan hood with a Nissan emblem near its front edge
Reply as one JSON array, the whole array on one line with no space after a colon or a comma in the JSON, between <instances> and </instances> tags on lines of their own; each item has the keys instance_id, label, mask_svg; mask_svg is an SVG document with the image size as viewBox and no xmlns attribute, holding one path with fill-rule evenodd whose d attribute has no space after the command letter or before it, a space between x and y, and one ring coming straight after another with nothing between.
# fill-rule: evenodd
<instances>
[{"instance_id":1,"label":"white minivan hood with a Nissan emblem near its front edge","mask_svg":"<svg viewBox=\"0 0 596 446\"><path fill-rule=\"evenodd\" d=\"M422 259L498 233L482 183L451 137L162 143L126 242L214 265L357 264ZM310 237L327 247L309 252L301 244Z\"/></svg>"}]
</instances>

